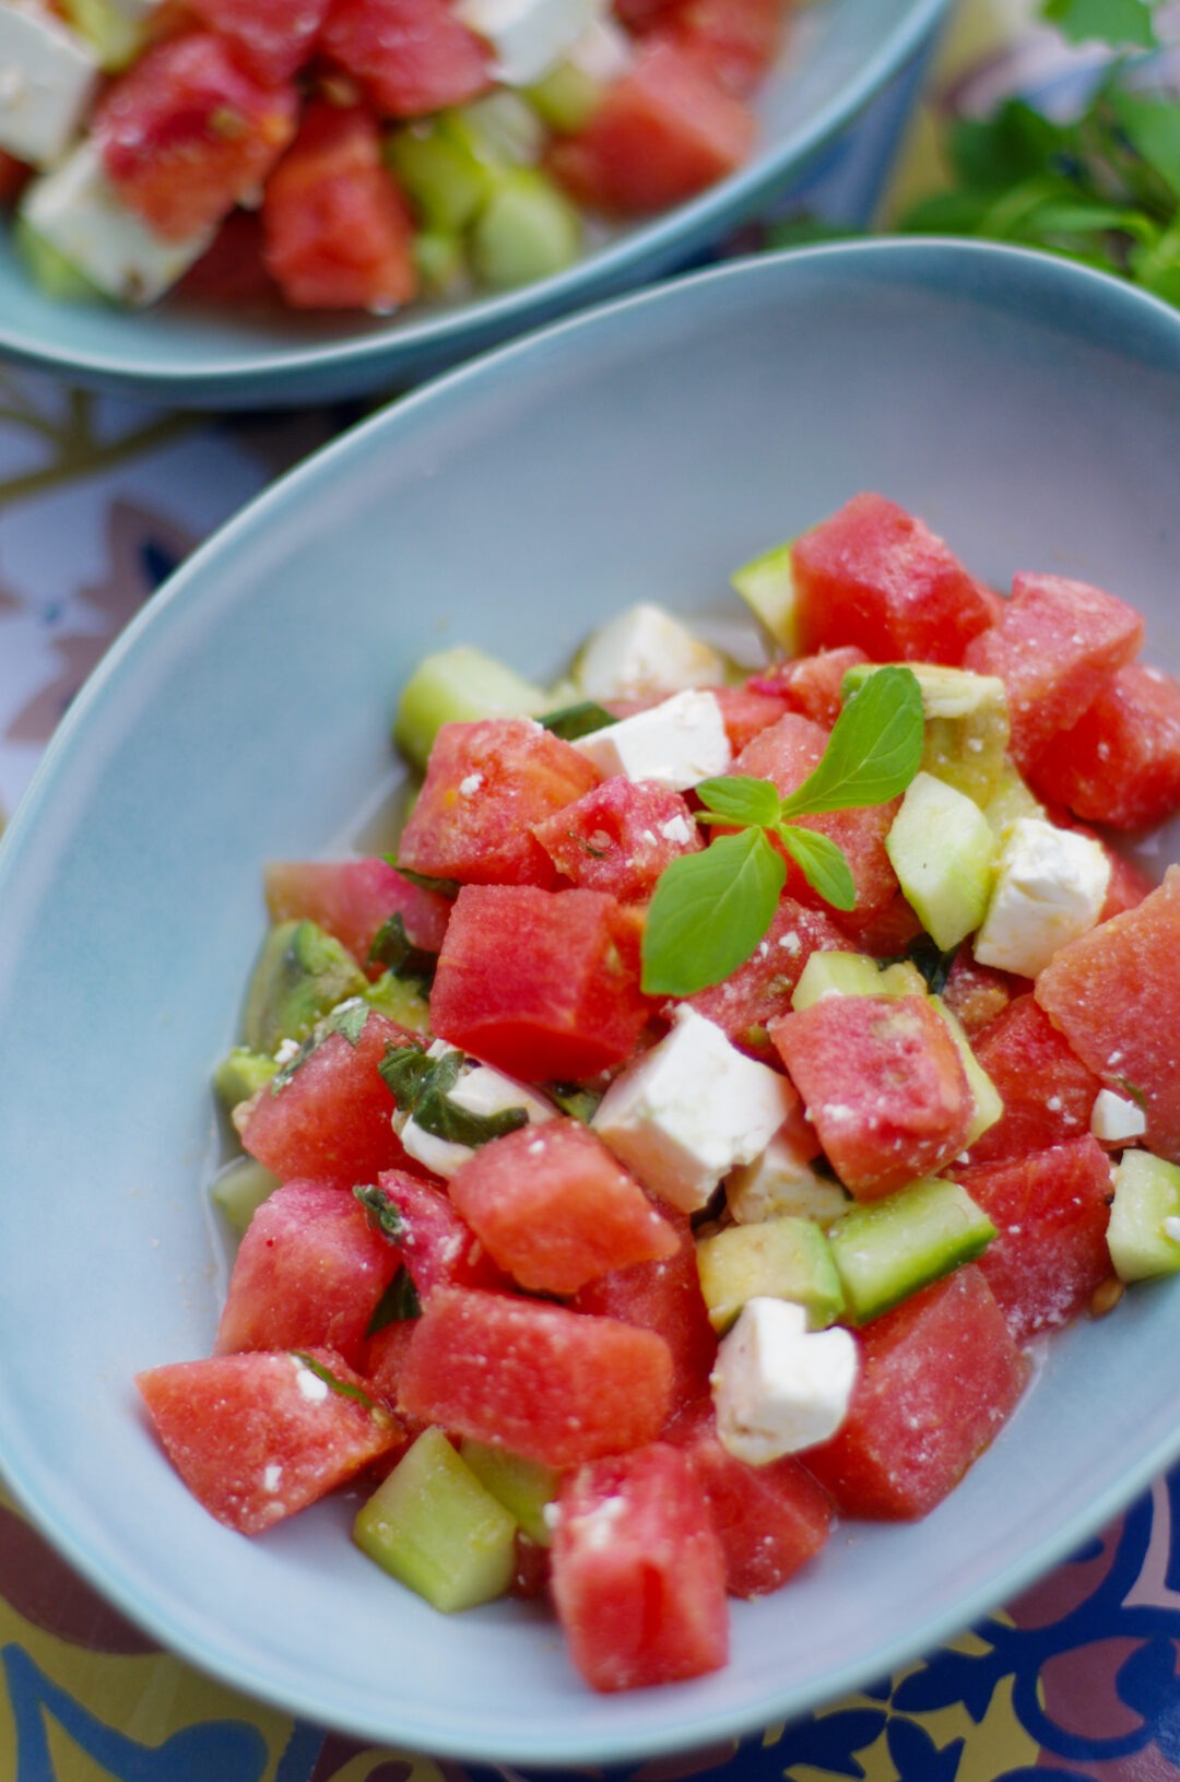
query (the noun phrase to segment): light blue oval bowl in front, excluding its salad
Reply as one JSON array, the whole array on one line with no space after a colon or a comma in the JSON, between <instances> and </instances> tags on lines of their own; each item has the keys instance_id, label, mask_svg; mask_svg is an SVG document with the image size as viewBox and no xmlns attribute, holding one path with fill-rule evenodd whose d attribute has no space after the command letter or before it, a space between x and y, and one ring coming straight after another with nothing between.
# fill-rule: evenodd
<instances>
[{"instance_id":1,"label":"light blue oval bowl in front, excluding its salad","mask_svg":"<svg viewBox=\"0 0 1180 1782\"><path fill-rule=\"evenodd\" d=\"M257 1541L223 1529L132 1376L212 1342L207 1083L262 934L260 864L371 823L424 652L467 640L551 675L635 601L727 608L736 563L879 488L996 584L1030 567L1110 586L1176 670L1176 463L1180 315L1061 260L875 242L731 264L487 355L201 549L84 688L0 843L0 1465L66 1557L303 1716L574 1764L865 1686L1160 1474L1180 1283L1052 1344L927 1522L845 1527L786 1591L738 1604L725 1672L602 1698L540 1611L444 1618L392 1584L351 1549L348 1500Z\"/></svg>"}]
</instances>

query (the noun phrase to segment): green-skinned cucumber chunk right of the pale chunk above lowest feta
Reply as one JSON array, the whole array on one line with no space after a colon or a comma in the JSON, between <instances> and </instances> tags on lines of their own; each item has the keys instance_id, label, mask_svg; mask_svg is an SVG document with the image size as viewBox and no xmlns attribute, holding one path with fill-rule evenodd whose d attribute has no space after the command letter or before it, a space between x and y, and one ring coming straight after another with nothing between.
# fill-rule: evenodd
<instances>
[{"instance_id":1,"label":"green-skinned cucumber chunk right of the pale chunk above lowest feta","mask_svg":"<svg viewBox=\"0 0 1180 1782\"><path fill-rule=\"evenodd\" d=\"M829 1231L847 1317L868 1324L922 1287L941 1281L996 1235L957 1181L923 1176L879 1201L861 1201Z\"/></svg>"}]
</instances>

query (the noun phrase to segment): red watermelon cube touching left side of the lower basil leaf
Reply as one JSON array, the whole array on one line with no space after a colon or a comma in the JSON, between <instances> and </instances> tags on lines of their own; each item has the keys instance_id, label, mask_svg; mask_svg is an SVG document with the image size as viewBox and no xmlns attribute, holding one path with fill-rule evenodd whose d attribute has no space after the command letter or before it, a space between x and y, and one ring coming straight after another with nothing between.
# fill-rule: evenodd
<instances>
[{"instance_id":1,"label":"red watermelon cube touching left side of the lower basil leaf","mask_svg":"<svg viewBox=\"0 0 1180 1782\"><path fill-rule=\"evenodd\" d=\"M649 1016L640 925L606 891L463 886L430 993L435 1034L533 1083L622 1064Z\"/></svg>"}]
</instances>

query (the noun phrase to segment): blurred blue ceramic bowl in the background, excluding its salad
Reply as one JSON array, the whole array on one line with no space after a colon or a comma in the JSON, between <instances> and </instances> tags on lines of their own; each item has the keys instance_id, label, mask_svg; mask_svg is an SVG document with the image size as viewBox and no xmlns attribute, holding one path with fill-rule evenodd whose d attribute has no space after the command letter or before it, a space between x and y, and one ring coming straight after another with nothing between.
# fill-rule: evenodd
<instances>
[{"instance_id":1,"label":"blurred blue ceramic bowl in the background, excluding its salad","mask_svg":"<svg viewBox=\"0 0 1180 1782\"><path fill-rule=\"evenodd\" d=\"M816 0L758 100L761 148L729 180L665 216L617 232L569 271L499 296L421 305L403 317L250 317L160 303L148 312L52 303L0 230L0 355L75 383L178 408L262 408L405 387L479 347L683 267L788 191L870 100L925 52L946 0ZM881 157L881 132L857 153ZM877 191L882 168L866 191Z\"/></svg>"}]
</instances>

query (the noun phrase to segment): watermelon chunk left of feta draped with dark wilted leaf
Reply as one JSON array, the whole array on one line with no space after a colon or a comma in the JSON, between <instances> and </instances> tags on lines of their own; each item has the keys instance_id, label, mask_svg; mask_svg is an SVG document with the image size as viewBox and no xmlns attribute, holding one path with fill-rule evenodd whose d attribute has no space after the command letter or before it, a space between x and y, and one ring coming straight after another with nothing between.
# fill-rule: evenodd
<instances>
[{"instance_id":1,"label":"watermelon chunk left of feta draped with dark wilted leaf","mask_svg":"<svg viewBox=\"0 0 1180 1782\"><path fill-rule=\"evenodd\" d=\"M360 1034L333 1030L292 1069L246 1103L239 1130L251 1157L280 1181L310 1176L351 1189L405 1164L392 1124L394 1098L378 1064L389 1046L406 1046L396 1021L367 1010Z\"/></svg>"}]
</instances>

